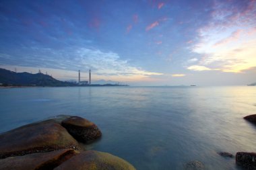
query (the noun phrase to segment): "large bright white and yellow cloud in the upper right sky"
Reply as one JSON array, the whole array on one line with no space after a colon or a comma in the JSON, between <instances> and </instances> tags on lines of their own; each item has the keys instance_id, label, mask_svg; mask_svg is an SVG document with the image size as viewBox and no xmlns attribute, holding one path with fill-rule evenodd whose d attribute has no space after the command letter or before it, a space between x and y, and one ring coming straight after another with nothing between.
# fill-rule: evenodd
<instances>
[{"instance_id":1,"label":"large bright white and yellow cloud in the upper right sky","mask_svg":"<svg viewBox=\"0 0 256 170\"><path fill-rule=\"evenodd\" d=\"M199 28L192 47L204 57L188 69L241 73L256 67L255 9L256 1L216 1L212 19Z\"/></svg>"}]
</instances>

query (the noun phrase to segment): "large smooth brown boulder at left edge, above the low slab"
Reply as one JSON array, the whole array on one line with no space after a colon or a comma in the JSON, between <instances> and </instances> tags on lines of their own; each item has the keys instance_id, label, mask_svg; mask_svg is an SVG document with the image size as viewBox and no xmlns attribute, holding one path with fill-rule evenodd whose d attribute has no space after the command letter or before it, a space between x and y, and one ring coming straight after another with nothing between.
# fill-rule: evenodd
<instances>
[{"instance_id":1,"label":"large smooth brown boulder at left edge, above the low slab","mask_svg":"<svg viewBox=\"0 0 256 170\"><path fill-rule=\"evenodd\" d=\"M54 120L28 124L0 135L0 159L61 148L77 149L79 144Z\"/></svg>"}]
</instances>

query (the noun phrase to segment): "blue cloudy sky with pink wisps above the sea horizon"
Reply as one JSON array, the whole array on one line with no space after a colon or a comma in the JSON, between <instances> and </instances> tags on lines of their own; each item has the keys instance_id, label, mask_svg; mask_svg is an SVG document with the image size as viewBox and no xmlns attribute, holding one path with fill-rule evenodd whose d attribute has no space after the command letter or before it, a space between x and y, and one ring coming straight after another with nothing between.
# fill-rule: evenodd
<instances>
[{"instance_id":1,"label":"blue cloudy sky with pink wisps above the sea horizon","mask_svg":"<svg viewBox=\"0 0 256 170\"><path fill-rule=\"evenodd\" d=\"M128 85L256 82L255 0L0 0L0 67Z\"/></svg>"}]
</instances>

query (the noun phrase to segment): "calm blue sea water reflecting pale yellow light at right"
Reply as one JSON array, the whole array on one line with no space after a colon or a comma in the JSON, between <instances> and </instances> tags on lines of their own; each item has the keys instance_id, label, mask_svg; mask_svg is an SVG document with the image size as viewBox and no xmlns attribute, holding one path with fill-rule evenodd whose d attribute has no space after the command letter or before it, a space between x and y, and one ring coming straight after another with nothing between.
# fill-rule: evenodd
<instances>
[{"instance_id":1,"label":"calm blue sea water reflecting pale yellow light at right","mask_svg":"<svg viewBox=\"0 0 256 170\"><path fill-rule=\"evenodd\" d=\"M0 132L59 114L96 123L85 146L139 169L238 169L220 151L256 152L256 87L40 87L0 89Z\"/></svg>"}]
</instances>

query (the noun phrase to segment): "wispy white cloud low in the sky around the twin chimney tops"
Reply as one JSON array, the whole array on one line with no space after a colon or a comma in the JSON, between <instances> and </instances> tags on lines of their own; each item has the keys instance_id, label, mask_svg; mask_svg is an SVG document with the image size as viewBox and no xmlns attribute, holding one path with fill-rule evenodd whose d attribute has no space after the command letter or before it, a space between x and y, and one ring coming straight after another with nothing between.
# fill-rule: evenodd
<instances>
[{"instance_id":1,"label":"wispy white cloud low in the sky around the twin chimney tops","mask_svg":"<svg viewBox=\"0 0 256 170\"><path fill-rule=\"evenodd\" d=\"M65 51L56 51L51 49L36 50L37 58L34 56L26 56L18 63L21 67L34 68L49 68L49 69L63 69L68 71L88 71L92 69L95 77L98 79L113 79L113 80L136 80L146 79L153 75L162 75L162 73L155 73L143 70L129 64L127 60L122 60L119 54L115 52L103 52L98 49L77 48ZM46 58L45 56L49 56ZM61 56L61 58L59 57ZM10 57L6 54L0 54L0 58ZM43 58L44 57L44 58ZM15 57L14 57L15 58ZM3 63L7 65L7 63Z\"/></svg>"}]
</instances>

